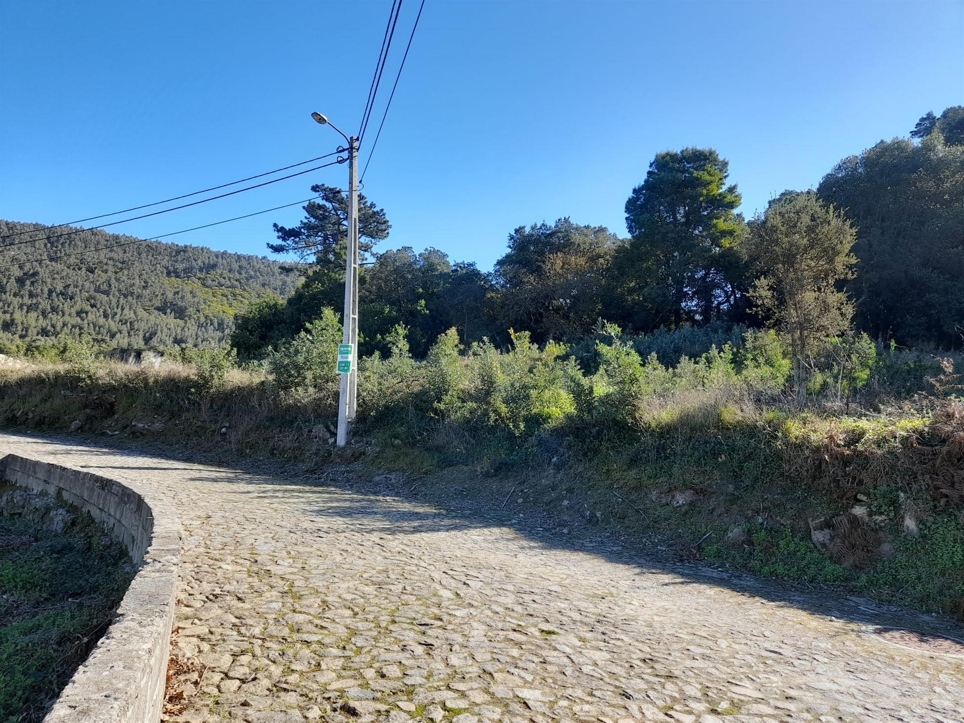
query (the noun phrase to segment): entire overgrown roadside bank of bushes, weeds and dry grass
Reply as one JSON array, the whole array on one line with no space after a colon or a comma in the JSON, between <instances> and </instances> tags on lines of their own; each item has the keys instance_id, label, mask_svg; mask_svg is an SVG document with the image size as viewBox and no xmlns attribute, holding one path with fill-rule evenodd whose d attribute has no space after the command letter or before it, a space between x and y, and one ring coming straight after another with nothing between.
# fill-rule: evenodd
<instances>
[{"instance_id":1,"label":"entire overgrown roadside bank of bushes, weeds and dry grass","mask_svg":"<svg viewBox=\"0 0 964 723\"><path fill-rule=\"evenodd\" d=\"M824 382L801 411L780 392L788 368L774 342L711 347L669 367L600 342L580 363L526 335L508 352L442 335L418 362L400 337L387 358L362 361L351 454L365 469L457 483L509 508L522 498L560 524L655 535L685 557L959 612L964 412L952 395L908 391L928 375L951 384L952 369L885 357L859 388L827 393ZM0 418L323 465L337 456L336 380L310 347L255 370L213 354L156 369L95 357L7 369ZM279 369L301 381L280 385Z\"/></svg>"}]
</instances>

